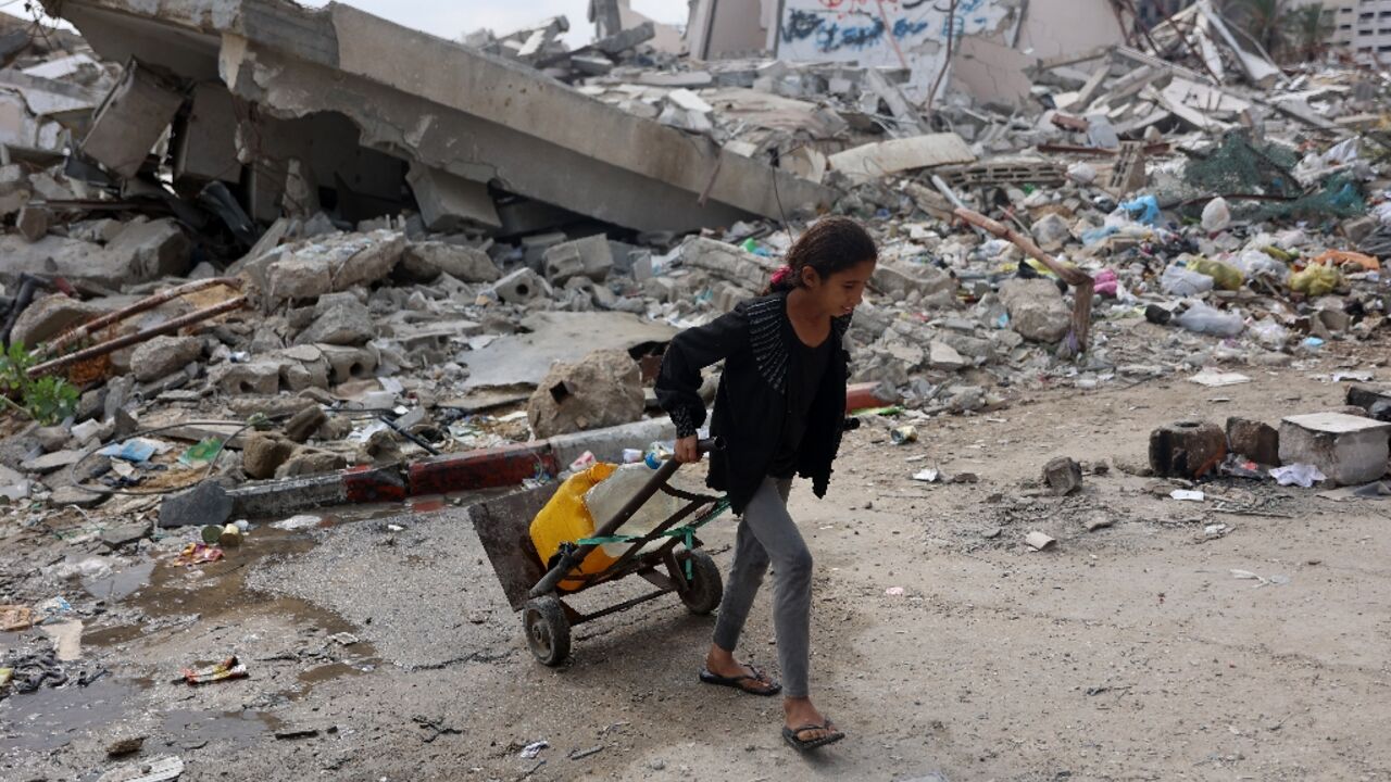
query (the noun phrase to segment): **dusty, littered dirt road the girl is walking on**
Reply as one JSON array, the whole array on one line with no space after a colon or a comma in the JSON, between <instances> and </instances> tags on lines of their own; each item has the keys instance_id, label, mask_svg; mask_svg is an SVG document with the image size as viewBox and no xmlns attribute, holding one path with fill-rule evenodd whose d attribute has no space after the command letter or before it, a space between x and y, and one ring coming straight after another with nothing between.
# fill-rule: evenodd
<instances>
[{"instance_id":1,"label":"dusty, littered dirt road the girl is walking on","mask_svg":"<svg viewBox=\"0 0 1391 782\"><path fill-rule=\"evenodd\" d=\"M697 682L714 619L675 597L577 628L568 665L538 665L462 506L263 526L193 569L127 555L86 590L43 575L83 545L15 513L6 589L63 590L81 668L108 672L0 701L0 778L96 779L111 742L145 736L135 758L178 756L192 781L1388 779L1391 501L1221 479L1181 502L1127 472L1159 424L1337 408L1328 373L1385 374L1385 356L1383 338L1219 390L1035 390L904 447L851 433L830 497L800 483L791 501L818 572L812 687L850 735L815 757L782 744L776 699ZM1092 468L1077 495L1038 486L1059 455ZM911 480L932 466L979 480ZM1028 550L1032 530L1057 545ZM732 533L705 536L722 568ZM771 591L741 651L775 668ZM177 682L232 653L248 679Z\"/></svg>"}]
</instances>

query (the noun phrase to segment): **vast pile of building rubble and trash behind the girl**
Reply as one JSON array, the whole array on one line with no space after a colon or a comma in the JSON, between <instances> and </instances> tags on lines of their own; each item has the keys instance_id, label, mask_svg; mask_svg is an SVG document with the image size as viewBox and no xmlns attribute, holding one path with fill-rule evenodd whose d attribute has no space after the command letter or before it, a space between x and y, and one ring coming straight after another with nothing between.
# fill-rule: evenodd
<instances>
[{"instance_id":1,"label":"vast pile of building rubble and trash behind the girl","mask_svg":"<svg viewBox=\"0 0 1391 782\"><path fill-rule=\"evenodd\" d=\"M665 342L758 295L826 213L879 241L847 346L900 419L1291 365L1385 324L1387 146L1360 131L1388 85L1280 68L1207 3L1049 57L972 28L974 64L940 74L701 60L620 3L574 50L565 18L452 43L241 4L300 32L230 47L213 17L75 0L49 10L143 43L0 36L11 498L153 518L186 491L167 526L225 522L241 506L191 487L640 420ZM363 54L384 42L396 60ZM982 57L1022 89L982 95Z\"/></svg>"}]
</instances>

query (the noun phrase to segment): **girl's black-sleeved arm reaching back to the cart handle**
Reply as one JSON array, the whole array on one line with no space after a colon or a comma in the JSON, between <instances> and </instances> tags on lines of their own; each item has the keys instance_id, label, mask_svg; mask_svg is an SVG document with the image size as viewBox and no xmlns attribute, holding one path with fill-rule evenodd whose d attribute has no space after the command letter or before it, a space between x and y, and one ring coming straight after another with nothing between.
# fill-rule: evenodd
<instances>
[{"instance_id":1,"label":"girl's black-sleeved arm reaching back to the cart handle","mask_svg":"<svg viewBox=\"0 0 1391 782\"><path fill-rule=\"evenodd\" d=\"M705 402L700 398L700 370L726 359L748 345L748 323L739 310L707 326L687 328L672 340L657 374L657 401L672 416L676 438L694 437L705 423Z\"/></svg>"}]
</instances>

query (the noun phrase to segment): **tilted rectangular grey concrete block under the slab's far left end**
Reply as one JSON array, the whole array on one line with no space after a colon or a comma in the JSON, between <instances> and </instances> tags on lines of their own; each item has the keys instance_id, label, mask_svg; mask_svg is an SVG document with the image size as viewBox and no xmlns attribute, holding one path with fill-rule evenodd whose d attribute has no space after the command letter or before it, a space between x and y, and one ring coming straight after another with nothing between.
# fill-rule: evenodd
<instances>
[{"instance_id":1,"label":"tilted rectangular grey concrete block under the slab's far left end","mask_svg":"<svg viewBox=\"0 0 1391 782\"><path fill-rule=\"evenodd\" d=\"M92 114L82 153L131 179L184 104L179 85L131 60Z\"/></svg>"}]
</instances>

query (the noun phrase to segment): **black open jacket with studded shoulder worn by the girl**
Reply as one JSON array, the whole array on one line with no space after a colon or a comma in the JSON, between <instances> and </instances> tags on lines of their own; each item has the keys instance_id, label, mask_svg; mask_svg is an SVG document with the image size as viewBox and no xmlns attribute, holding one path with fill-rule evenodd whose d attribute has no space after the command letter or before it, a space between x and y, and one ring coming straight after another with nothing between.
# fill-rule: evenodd
<instances>
[{"instance_id":1,"label":"black open jacket with studded shoulder worn by the girl","mask_svg":"<svg viewBox=\"0 0 1391 782\"><path fill-rule=\"evenodd\" d=\"M830 359L807 415L807 430L797 455L797 472L810 477L817 497L826 495L830 462L840 449L846 420L846 378L850 353L843 346L850 316L832 320ZM672 416L677 437L690 437L705 422L700 398L701 369L719 360L725 372L715 397L711 436L725 440L723 451L711 454L711 488L729 494L736 513L753 500L768 476L789 415L789 362L796 355L789 340L797 334L787 320L787 294L779 292L740 303L698 328L682 331L666 348L657 376L657 399Z\"/></svg>"}]
</instances>

